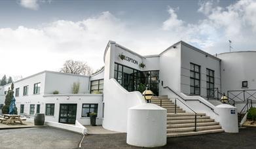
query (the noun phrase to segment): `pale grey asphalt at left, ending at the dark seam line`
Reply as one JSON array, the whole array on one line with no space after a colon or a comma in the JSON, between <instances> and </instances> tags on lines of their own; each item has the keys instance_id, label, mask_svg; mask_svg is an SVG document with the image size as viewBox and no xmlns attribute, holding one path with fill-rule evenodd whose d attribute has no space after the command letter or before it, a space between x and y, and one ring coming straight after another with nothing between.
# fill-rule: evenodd
<instances>
[{"instance_id":1,"label":"pale grey asphalt at left, ending at the dark seam line","mask_svg":"<svg viewBox=\"0 0 256 149\"><path fill-rule=\"evenodd\" d=\"M82 135L53 127L0 130L0 148L78 148Z\"/></svg>"}]
</instances>

